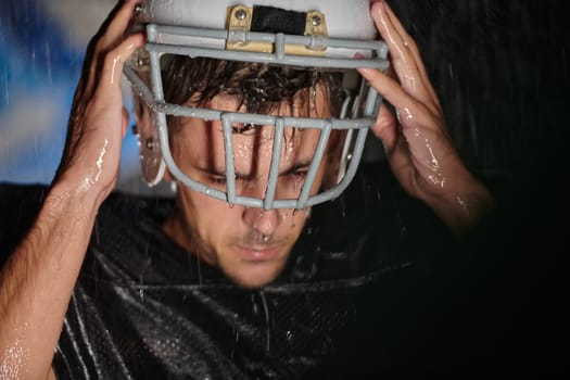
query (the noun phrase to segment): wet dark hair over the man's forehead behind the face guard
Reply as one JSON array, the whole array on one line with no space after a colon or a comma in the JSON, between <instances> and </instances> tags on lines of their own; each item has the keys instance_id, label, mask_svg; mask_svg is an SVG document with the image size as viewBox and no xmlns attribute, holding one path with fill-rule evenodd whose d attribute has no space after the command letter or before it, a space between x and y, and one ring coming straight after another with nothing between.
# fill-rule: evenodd
<instances>
[{"instance_id":1,"label":"wet dark hair over the man's forehead behind the face guard","mask_svg":"<svg viewBox=\"0 0 570 380\"><path fill-rule=\"evenodd\" d=\"M338 116L343 97L341 74L334 72L181 55L168 56L163 66L165 100L175 104L191 100L205 106L218 94L230 94L246 112L265 114L301 100L308 115L319 87Z\"/></svg>"}]
</instances>

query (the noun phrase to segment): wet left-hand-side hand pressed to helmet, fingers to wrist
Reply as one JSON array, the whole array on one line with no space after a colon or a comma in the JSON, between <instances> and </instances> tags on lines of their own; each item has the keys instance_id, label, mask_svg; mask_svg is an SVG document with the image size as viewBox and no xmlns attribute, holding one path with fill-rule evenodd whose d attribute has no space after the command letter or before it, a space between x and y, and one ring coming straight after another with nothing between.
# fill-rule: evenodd
<instances>
[{"instance_id":1,"label":"wet left-hand-side hand pressed to helmet, fingers to wrist","mask_svg":"<svg viewBox=\"0 0 570 380\"><path fill-rule=\"evenodd\" d=\"M123 65L144 42L141 34L125 38L135 3L117 4L89 42L53 183L92 202L96 208L115 187L128 127L121 86Z\"/></svg>"}]
</instances>

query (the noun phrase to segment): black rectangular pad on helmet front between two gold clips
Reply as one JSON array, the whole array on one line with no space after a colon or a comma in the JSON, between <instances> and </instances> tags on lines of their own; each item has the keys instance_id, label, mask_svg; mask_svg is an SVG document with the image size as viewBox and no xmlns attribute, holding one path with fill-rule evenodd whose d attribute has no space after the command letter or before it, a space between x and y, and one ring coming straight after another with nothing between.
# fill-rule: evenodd
<instances>
[{"instance_id":1,"label":"black rectangular pad on helmet front between two gold clips","mask_svg":"<svg viewBox=\"0 0 570 380\"><path fill-rule=\"evenodd\" d=\"M254 5L251 31L303 36L307 14L281 8Z\"/></svg>"}]
</instances>

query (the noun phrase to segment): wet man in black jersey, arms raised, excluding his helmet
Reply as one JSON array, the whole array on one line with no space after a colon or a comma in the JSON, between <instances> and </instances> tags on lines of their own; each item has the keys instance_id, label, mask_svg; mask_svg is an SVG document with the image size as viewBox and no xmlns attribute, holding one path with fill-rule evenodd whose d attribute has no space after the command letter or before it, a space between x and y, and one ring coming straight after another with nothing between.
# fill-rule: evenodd
<instances>
[{"instance_id":1,"label":"wet man in black jersey, arms raised, excluding his helmet","mask_svg":"<svg viewBox=\"0 0 570 380\"><path fill-rule=\"evenodd\" d=\"M351 223L360 219L358 233L315 233L321 241L312 245L313 231L327 223L329 213L337 215L338 205L332 212L315 207L317 215L305 226L311 214L306 202L283 208L249 206L208 194L217 190L228 199L235 192L238 201L263 199L274 177L276 200L301 199L303 192L306 200L338 174L328 161L343 139L340 132L332 131L328 149L319 150L321 134L313 128L284 126L283 142L274 144L273 126L230 123L235 153L233 165L228 165L228 135L220 131L226 124L170 116L169 148L177 165L163 170L178 183L176 206L111 195L128 126L121 75L144 45L141 33L125 37L136 8L135 1L122 2L89 46L58 175L47 192L27 195L31 203L41 200L37 216L22 223L30 225L27 232L8 236L5 244L13 251L0 276L0 373L29 379L302 377L342 351L339 337L352 326L356 303L368 294L369 284L390 265L405 267L409 261L376 256L380 244L369 230L360 239L363 224L368 229L381 225L362 219L371 215L368 208L377 212L370 203L362 207L366 213L352 215ZM397 78L358 68L397 114L396 123L382 106L372 131L402 188L453 232L465 233L489 210L491 195L453 147L414 40L385 2L373 2L370 14ZM213 63L205 60L194 67L200 75L192 77L183 72L183 60L168 64L170 80L192 78L185 85L194 87L181 97L188 106L279 117L330 118L335 112L334 75L264 65L238 69L224 62L207 68ZM194 83L208 75L210 80ZM259 88L255 80L243 86L248 78L275 75L276 83L300 84L274 98L259 93L257 102L240 92ZM212 80L220 77L228 85L208 93ZM238 85L229 85L232 79ZM141 136L155 122L151 111L145 104L136 106ZM152 138L141 144L143 156L156 152ZM275 150L278 161L271 160ZM318 152L320 163L312 165ZM227 176L229 167L235 182ZM308 175L313 185L305 190ZM206 188L187 188L186 177ZM342 244L321 255L329 242Z\"/></svg>"}]
</instances>

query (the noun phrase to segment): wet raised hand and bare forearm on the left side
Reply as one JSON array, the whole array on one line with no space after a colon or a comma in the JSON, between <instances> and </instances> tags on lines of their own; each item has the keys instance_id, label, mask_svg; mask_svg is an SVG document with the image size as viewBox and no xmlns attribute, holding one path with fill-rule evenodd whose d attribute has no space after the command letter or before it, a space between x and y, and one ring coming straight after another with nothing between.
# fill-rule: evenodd
<instances>
[{"instance_id":1,"label":"wet raised hand and bare forearm on the left side","mask_svg":"<svg viewBox=\"0 0 570 380\"><path fill-rule=\"evenodd\" d=\"M125 0L89 43L62 163L34 226L0 268L0 378L51 379L55 346L128 125L121 76L144 42Z\"/></svg>"}]
</instances>

